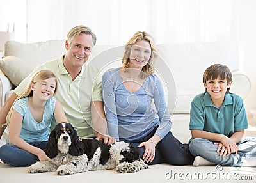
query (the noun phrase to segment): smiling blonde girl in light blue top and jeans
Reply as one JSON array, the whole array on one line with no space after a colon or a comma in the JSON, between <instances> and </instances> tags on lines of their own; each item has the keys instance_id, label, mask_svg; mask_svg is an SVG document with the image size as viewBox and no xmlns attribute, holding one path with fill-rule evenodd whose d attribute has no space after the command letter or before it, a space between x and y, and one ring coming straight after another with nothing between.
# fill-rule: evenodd
<instances>
[{"instance_id":1,"label":"smiling blonde girl in light blue top and jeans","mask_svg":"<svg viewBox=\"0 0 256 183\"><path fill-rule=\"evenodd\" d=\"M0 159L12 166L30 166L46 161L44 148L49 138L52 118L67 122L67 118L53 95L57 90L56 76L51 70L40 70L32 77L9 111L9 143L0 148Z\"/></svg>"}]
</instances>

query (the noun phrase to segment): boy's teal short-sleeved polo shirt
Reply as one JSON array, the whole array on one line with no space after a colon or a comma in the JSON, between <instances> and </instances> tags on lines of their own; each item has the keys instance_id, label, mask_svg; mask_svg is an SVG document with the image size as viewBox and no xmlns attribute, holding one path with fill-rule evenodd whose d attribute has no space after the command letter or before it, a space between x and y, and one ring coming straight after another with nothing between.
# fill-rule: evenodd
<instances>
[{"instance_id":1,"label":"boy's teal short-sleeved polo shirt","mask_svg":"<svg viewBox=\"0 0 256 183\"><path fill-rule=\"evenodd\" d=\"M232 136L235 131L248 127L243 99L226 93L220 108L212 104L208 92L200 93L191 102L189 129Z\"/></svg>"}]
</instances>

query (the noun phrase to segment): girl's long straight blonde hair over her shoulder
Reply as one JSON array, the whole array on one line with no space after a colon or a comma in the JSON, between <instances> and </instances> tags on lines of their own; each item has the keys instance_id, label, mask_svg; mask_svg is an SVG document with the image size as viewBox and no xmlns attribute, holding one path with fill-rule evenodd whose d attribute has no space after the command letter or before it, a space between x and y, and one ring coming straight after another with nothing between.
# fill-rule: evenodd
<instances>
[{"instance_id":1,"label":"girl's long straight blonde hair over her shoulder","mask_svg":"<svg viewBox=\"0 0 256 183\"><path fill-rule=\"evenodd\" d=\"M8 115L6 116L6 123L4 124L4 127L7 127L10 123L10 118L12 116L12 111L13 111L13 105L15 104L15 102L23 97L29 97L33 95L33 90L31 90L31 84L32 83L36 83L38 81L43 81L45 79L49 79L49 78L55 78L55 90L54 90L54 95L57 91L57 79L55 74L51 71L51 70L40 70L38 72L36 72L30 79L29 83L26 85L26 88L23 90L22 93L20 93L20 95L17 97L17 99L15 99L15 101L12 104L12 107L10 109L10 111L8 112Z\"/></svg>"}]
</instances>

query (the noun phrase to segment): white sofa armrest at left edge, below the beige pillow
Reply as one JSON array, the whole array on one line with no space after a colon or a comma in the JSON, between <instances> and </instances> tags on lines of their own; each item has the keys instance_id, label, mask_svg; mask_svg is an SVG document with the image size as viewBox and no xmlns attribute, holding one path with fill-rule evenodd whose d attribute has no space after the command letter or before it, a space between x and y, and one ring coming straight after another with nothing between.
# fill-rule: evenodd
<instances>
[{"instance_id":1,"label":"white sofa armrest at left edge, below the beige pillow","mask_svg":"<svg viewBox=\"0 0 256 183\"><path fill-rule=\"evenodd\" d=\"M8 77L0 74L0 109L3 107L5 102L5 94L12 90L13 84Z\"/></svg>"}]
</instances>

